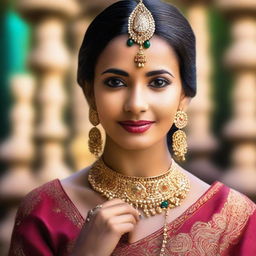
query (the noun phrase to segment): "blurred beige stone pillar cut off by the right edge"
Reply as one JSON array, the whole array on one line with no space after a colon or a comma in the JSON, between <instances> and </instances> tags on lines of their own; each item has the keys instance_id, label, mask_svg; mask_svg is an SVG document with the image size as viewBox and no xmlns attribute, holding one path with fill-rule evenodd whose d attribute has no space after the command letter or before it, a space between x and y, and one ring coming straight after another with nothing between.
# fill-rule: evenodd
<instances>
[{"instance_id":1,"label":"blurred beige stone pillar cut off by the right edge","mask_svg":"<svg viewBox=\"0 0 256 256\"><path fill-rule=\"evenodd\" d=\"M234 150L223 181L256 198L256 1L216 2L232 22L233 41L225 63L235 78L233 116L224 129Z\"/></svg>"}]
</instances>

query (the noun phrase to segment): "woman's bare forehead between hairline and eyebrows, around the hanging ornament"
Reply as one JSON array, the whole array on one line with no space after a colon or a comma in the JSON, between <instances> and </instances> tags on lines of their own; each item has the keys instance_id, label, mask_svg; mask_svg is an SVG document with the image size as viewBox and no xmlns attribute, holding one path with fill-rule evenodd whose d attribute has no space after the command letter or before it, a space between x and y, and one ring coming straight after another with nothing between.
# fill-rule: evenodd
<instances>
[{"instance_id":1,"label":"woman's bare forehead between hairline and eyebrows, around the hanging ornament","mask_svg":"<svg viewBox=\"0 0 256 256\"><path fill-rule=\"evenodd\" d=\"M178 58L173 48L162 38L153 36L150 39L151 46L144 50L147 63L144 68L136 67L134 57L139 51L139 45L131 47L126 45L127 35L114 38L99 56L96 65L96 75L108 68L120 68L130 73L145 70L167 69L174 74L179 73Z\"/></svg>"}]
</instances>

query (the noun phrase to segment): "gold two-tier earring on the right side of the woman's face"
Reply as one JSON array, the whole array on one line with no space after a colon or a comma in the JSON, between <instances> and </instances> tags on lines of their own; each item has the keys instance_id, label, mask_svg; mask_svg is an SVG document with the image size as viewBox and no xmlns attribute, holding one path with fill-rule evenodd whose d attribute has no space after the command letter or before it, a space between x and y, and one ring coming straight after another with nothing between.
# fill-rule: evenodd
<instances>
[{"instance_id":1,"label":"gold two-tier earring on the right side of the woman's face","mask_svg":"<svg viewBox=\"0 0 256 256\"><path fill-rule=\"evenodd\" d=\"M177 111L174 124L178 129L186 127L188 124L187 114L182 110ZM172 135L172 148L174 155L181 161L185 161L185 154L187 153L188 145L186 139L186 133L182 130L178 130Z\"/></svg>"}]
</instances>

